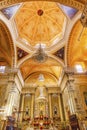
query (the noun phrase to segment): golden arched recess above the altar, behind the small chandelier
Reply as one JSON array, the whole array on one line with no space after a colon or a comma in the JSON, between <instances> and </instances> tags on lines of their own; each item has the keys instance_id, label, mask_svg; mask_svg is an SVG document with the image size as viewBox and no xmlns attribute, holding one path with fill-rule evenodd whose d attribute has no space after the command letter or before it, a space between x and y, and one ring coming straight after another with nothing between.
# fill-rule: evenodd
<instances>
[{"instance_id":1,"label":"golden arched recess above the altar, behind the small chandelier","mask_svg":"<svg viewBox=\"0 0 87 130\"><path fill-rule=\"evenodd\" d=\"M39 81L39 76L43 75L44 80L43 81ZM50 80L50 82L49 82ZM58 87L58 79L57 77L50 73L50 72L46 72L46 71L36 71L34 73L31 73L30 75L28 75L28 77L25 79L25 84L28 85L32 85L33 87L37 87L39 85L43 85L44 87L51 87L51 86L56 86Z\"/></svg>"}]
</instances>

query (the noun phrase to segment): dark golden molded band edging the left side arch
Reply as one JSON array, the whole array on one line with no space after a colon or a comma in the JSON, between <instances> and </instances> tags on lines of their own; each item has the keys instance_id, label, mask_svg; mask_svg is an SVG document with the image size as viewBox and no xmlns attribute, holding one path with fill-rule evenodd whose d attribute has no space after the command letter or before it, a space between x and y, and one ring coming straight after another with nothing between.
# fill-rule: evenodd
<instances>
[{"instance_id":1,"label":"dark golden molded band edging the left side arch","mask_svg":"<svg viewBox=\"0 0 87 130\"><path fill-rule=\"evenodd\" d=\"M6 39L6 44L10 45L9 49L11 49L11 60L12 60L11 66L13 67L15 64L15 59L14 59L15 50L14 50L13 40L12 40L12 37L11 37L11 34L10 34L8 27L5 25L5 23L2 20L0 20L0 31L3 32L4 38Z\"/></svg>"}]
</instances>

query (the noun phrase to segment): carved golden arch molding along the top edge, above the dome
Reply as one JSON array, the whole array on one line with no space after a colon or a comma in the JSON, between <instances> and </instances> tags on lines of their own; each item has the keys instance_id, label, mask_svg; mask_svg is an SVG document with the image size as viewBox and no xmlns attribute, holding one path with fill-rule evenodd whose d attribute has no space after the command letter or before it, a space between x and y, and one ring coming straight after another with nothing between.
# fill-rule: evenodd
<instances>
[{"instance_id":1,"label":"carved golden arch molding along the top edge, above the dome","mask_svg":"<svg viewBox=\"0 0 87 130\"><path fill-rule=\"evenodd\" d=\"M28 0L30 1L30 0ZM39 0L37 0L39 1ZM42 0L44 1L44 0ZM48 0L49 1L49 0ZM78 10L83 10L84 5L82 3L82 1L75 1L75 0L50 0L51 2L58 2L64 5L68 5L71 7L74 7ZM5 8L7 6L13 5L13 4L17 4L17 3L21 3L21 2L26 2L26 0L4 0L0 2L0 9ZM85 2L85 1L84 1Z\"/></svg>"}]
</instances>

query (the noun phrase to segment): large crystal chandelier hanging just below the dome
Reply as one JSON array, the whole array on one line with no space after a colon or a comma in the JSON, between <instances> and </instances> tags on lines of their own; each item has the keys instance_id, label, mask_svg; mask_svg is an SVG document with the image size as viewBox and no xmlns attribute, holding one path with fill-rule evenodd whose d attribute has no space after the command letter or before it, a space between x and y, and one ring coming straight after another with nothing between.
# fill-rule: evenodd
<instances>
[{"instance_id":1,"label":"large crystal chandelier hanging just below the dome","mask_svg":"<svg viewBox=\"0 0 87 130\"><path fill-rule=\"evenodd\" d=\"M48 55L45 53L44 49L41 47L41 44L37 51L33 55L33 59L35 62L43 63L48 59Z\"/></svg>"}]
</instances>

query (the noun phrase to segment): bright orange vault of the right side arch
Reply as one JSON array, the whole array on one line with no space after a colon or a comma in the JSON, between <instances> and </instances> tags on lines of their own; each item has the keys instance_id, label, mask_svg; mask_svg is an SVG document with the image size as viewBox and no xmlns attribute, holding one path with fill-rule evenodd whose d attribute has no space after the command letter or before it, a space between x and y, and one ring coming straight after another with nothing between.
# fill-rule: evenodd
<instances>
[{"instance_id":1,"label":"bright orange vault of the right side arch","mask_svg":"<svg viewBox=\"0 0 87 130\"><path fill-rule=\"evenodd\" d=\"M68 66L80 65L85 69L87 68L87 28L84 28L83 32L82 28L83 26L78 20L70 34L67 59Z\"/></svg>"}]
</instances>

